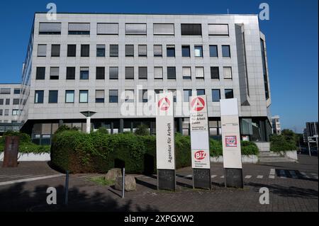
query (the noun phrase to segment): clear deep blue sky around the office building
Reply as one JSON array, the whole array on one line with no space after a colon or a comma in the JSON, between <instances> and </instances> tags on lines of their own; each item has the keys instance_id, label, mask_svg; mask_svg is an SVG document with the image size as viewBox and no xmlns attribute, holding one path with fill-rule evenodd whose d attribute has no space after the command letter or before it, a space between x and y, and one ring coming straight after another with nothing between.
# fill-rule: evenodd
<instances>
[{"instance_id":1,"label":"clear deep blue sky around the office building","mask_svg":"<svg viewBox=\"0 0 319 226\"><path fill-rule=\"evenodd\" d=\"M267 2L270 20L260 21L260 28L267 37L272 114L281 116L282 128L296 132L306 121L318 121L318 0L0 2L0 83L20 81L33 13L46 11L49 2L58 12L254 14Z\"/></svg>"}]
</instances>

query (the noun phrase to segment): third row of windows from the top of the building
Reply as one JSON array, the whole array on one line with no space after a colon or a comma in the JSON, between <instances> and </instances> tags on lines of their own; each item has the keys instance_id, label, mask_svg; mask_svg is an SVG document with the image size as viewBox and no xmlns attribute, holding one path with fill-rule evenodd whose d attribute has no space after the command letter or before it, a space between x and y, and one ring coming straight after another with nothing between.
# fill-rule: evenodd
<instances>
[{"instance_id":1,"label":"third row of windows from the top of the building","mask_svg":"<svg viewBox=\"0 0 319 226\"><path fill-rule=\"evenodd\" d=\"M125 67L125 79L135 78L134 67ZM182 67L183 79L191 79L191 67ZM195 67L196 79L204 79L204 67ZM118 67L109 67L109 79L118 79ZM138 67L138 79L147 79L147 67ZM66 79L74 80L76 67L67 67ZM50 79L58 80L60 78L60 67L50 67ZM96 79L106 78L106 67L96 67ZM232 67L223 67L223 78L233 79ZM45 67L37 67L35 79L45 79ZM79 79L89 79L89 67L79 68ZM154 67L154 79L163 79L163 67ZM167 67L167 79L176 79L176 67ZM211 67L211 79L220 79L219 67Z\"/></svg>"}]
</instances>

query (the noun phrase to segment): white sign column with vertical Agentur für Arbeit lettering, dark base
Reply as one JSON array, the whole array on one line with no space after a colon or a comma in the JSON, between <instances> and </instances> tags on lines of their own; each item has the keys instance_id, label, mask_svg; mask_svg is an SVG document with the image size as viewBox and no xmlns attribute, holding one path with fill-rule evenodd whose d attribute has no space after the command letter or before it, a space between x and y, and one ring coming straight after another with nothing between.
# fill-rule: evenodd
<instances>
[{"instance_id":1,"label":"white sign column with vertical Agentur f\u00fcr Arbeit lettering, dark base","mask_svg":"<svg viewBox=\"0 0 319 226\"><path fill-rule=\"evenodd\" d=\"M157 189L175 191L174 101L172 93L156 95Z\"/></svg>"}]
</instances>

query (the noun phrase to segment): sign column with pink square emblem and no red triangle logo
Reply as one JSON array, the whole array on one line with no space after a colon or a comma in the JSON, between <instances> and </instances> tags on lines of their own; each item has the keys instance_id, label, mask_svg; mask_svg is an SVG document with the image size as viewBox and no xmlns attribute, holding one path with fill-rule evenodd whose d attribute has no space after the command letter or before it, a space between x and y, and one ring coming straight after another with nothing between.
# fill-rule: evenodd
<instances>
[{"instance_id":1,"label":"sign column with pink square emblem and no red triangle logo","mask_svg":"<svg viewBox=\"0 0 319 226\"><path fill-rule=\"evenodd\" d=\"M225 186L243 188L237 98L220 100Z\"/></svg>"}]
</instances>

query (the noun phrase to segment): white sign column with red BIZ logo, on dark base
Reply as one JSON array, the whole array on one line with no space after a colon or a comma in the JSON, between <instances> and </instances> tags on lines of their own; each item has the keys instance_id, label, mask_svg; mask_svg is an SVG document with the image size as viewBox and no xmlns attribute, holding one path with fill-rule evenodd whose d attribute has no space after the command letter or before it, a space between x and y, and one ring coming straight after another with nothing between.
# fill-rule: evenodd
<instances>
[{"instance_id":1,"label":"white sign column with red BIZ logo, on dark base","mask_svg":"<svg viewBox=\"0 0 319 226\"><path fill-rule=\"evenodd\" d=\"M189 100L191 123L191 166L193 187L211 190L211 157L206 96L191 96Z\"/></svg>"}]
</instances>

